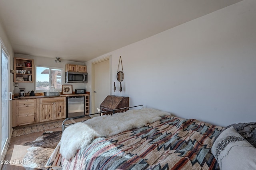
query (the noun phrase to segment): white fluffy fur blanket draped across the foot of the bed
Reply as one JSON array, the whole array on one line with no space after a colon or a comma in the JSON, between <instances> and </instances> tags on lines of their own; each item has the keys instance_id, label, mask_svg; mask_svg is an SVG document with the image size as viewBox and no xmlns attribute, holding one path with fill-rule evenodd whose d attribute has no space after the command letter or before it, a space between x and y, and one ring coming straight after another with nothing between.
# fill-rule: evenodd
<instances>
[{"instance_id":1,"label":"white fluffy fur blanket draped across the foot of the bed","mask_svg":"<svg viewBox=\"0 0 256 170\"><path fill-rule=\"evenodd\" d=\"M69 160L78 149L87 147L94 137L110 137L130 129L139 128L160 120L164 115L171 114L156 109L142 108L114 115L98 116L85 122L75 123L67 127L62 134L60 154Z\"/></svg>"}]
</instances>

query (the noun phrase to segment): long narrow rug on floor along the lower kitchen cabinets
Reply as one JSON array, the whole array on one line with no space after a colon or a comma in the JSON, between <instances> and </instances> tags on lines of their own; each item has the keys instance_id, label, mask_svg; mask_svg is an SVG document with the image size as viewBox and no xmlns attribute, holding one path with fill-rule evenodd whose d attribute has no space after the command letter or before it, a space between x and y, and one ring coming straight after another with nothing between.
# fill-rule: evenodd
<instances>
[{"instance_id":1,"label":"long narrow rug on floor along the lower kitchen cabinets","mask_svg":"<svg viewBox=\"0 0 256 170\"><path fill-rule=\"evenodd\" d=\"M30 133L35 133L39 131L45 131L48 129L54 129L56 127L61 127L62 122L63 121L54 121L54 122L44 123L40 125L32 125L28 127L15 127L13 128L13 131L12 131L12 137L28 135ZM70 124L70 123L76 123L76 121L74 121L73 119L65 121L65 124Z\"/></svg>"}]
</instances>

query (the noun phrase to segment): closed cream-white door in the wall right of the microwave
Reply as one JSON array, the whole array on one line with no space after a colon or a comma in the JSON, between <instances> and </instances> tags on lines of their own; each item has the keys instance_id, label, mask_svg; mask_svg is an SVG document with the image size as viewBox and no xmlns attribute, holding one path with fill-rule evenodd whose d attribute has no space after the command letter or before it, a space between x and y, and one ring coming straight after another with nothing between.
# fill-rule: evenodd
<instances>
[{"instance_id":1,"label":"closed cream-white door in the wall right of the microwave","mask_svg":"<svg viewBox=\"0 0 256 170\"><path fill-rule=\"evenodd\" d=\"M92 63L92 113L110 95L110 56Z\"/></svg>"}]
</instances>

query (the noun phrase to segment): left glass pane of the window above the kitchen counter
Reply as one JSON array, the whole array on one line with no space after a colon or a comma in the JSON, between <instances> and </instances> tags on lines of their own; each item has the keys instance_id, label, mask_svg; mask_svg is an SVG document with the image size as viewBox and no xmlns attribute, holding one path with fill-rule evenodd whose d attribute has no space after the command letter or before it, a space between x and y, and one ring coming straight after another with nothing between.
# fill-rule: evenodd
<instances>
[{"instance_id":1,"label":"left glass pane of the window above the kitchen counter","mask_svg":"<svg viewBox=\"0 0 256 170\"><path fill-rule=\"evenodd\" d=\"M49 68L36 66L36 90L49 89Z\"/></svg>"}]
</instances>

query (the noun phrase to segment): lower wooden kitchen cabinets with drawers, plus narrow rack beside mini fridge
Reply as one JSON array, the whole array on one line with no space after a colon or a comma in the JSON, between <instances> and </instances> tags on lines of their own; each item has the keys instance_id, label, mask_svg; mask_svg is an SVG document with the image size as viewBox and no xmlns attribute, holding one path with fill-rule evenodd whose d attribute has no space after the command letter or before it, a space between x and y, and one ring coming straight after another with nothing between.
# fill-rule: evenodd
<instances>
[{"instance_id":1,"label":"lower wooden kitchen cabinets with drawers, plus narrow rack beside mini fridge","mask_svg":"<svg viewBox=\"0 0 256 170\"><path fill-rule=\"evenodd\" d=\"M89 114L89 95L85 95ZM12 127L66 118L66 96L12 100Z\"/></svg>"}]
</instances>

